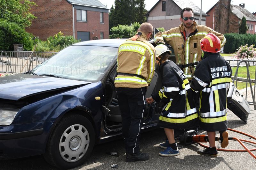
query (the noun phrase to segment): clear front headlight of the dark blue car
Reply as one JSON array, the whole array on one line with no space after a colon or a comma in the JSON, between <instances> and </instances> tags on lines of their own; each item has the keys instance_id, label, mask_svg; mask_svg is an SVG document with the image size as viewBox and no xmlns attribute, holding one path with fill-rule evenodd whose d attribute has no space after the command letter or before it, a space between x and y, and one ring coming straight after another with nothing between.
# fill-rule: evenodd
<instances>
[{"instance_id":1,"label":"clear front headlight of the dark blue car","mask_svg":"<svg viewBox=\"0 0 256 170\"><path fill-rule=\"evenodd\" d=\"M18 113L18 109L0 108L0 125L10 125Z\"/></svg>"}]
</instances>

